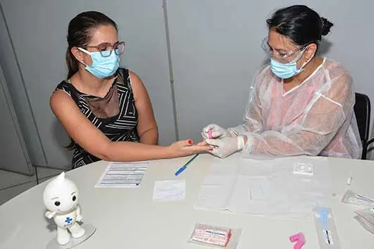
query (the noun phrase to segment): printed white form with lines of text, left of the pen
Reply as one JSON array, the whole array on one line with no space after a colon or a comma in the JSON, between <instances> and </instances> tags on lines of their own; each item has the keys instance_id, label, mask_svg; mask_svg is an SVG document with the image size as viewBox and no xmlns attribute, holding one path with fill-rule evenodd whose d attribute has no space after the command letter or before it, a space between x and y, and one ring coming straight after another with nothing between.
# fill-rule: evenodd
<instances>
[{"instance_id":1,"label":"printed white form with lines of text, left of the pen","mask_svg":"<svg viewBox=\"0 0 374 249\"><path fill-rule=\"evenodd\" d=\"M133 188L140 185L148 162L110 162L100 176L96 188Z\"/></svg>"}]
</instances>

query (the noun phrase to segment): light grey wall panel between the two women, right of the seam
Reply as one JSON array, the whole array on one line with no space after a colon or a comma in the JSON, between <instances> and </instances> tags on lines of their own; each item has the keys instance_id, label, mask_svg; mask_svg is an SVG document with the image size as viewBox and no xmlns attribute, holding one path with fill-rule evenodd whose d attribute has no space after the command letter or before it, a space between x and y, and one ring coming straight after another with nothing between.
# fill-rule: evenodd
<instances>
[{"instance_id":1,"label":"light grey wall panel between the two women, right of the seam","mask_svg":"<svg viewBox=\"0 0 374 249\"><path fill-rule=\"evenodd\" d=\"M181 138L200 140L204 125L241 122L264 53L267 6L252 1L168 1ZM193 120L193 122L192 122Z\"/></svg>"}]
</instances>

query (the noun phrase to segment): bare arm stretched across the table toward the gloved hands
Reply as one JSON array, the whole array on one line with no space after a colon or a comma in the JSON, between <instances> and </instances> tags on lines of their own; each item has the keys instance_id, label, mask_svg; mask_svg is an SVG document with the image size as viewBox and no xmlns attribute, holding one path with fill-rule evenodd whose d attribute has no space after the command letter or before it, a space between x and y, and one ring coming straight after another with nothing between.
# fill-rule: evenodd
<instances>
[{"instance_id":1,"label":"bare arm stretched across the table toward the gloved hands","mask_svg":"<svg viewBox=\"0 0 374 249\"><path fill-rule=\"evenodd\" d=\"M80 147L95 157L107 161L139 161L182 157L209 150L206 145L175 142L168 147L135 142L112 142L80 112L73 99L56 90L51 96L51 109Z\"/></svg>"}]
</instances>

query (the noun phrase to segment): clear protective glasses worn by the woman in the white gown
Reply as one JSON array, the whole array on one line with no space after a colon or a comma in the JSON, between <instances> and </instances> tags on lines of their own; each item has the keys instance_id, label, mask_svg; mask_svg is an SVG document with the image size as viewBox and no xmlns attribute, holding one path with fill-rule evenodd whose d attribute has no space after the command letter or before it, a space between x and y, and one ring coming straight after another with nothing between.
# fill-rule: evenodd
<instances>
[{"instance_id":1,"label":"clear protective glasses worn by the woman in the white gown","mask_svg":"<svg viewBox=\"0 0 374 249\"><path fill-rule=\"evenodd\" d=\"M296 51L274 50L271 48L271 46L269 46L268 38L264 38L261 43L261 48L266 52L267 55L269 55L270 58L274 58L274 60L278 60L282 63L290 63L294 60L298 60L298 58L300 58L303 54L303 51L306 50L306 47L311 43L307 43L306 45L299 47Z\"/></svg>"}]
</instances>

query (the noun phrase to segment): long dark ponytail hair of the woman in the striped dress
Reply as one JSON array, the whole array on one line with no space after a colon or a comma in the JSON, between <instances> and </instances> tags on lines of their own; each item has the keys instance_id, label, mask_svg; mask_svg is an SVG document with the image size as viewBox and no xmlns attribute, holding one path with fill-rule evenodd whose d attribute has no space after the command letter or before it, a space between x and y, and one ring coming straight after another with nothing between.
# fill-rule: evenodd
<instances>
[{"instance_id":1,"label":"long dark ponytail hair of the woman in the striped dress","mask_svg":"<svg viewBox=\"0 0 374 249\"><path fill-rule=\"evenodd\" d=\"M78 16L71 19L68 26L68 48L66 49L66 65L68 65L68 78L78 72L78 60L71 53L73 47L84 47L87 46L90 38L92 37L92 31L101 25L111 25L117 31L117 24L105 16L103 13L98 11L86 11L78 14Z\"/></svg>"}]
</instances>

